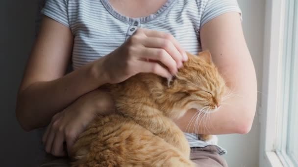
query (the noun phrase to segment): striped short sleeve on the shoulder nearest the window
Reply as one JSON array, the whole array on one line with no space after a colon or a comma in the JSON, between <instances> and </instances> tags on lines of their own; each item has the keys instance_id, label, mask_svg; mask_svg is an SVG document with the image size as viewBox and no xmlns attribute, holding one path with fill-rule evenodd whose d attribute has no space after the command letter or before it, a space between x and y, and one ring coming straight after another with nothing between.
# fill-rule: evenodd
<instances>
[{"instance_id":1,"label":"striped short sleeve on the shoulder nearest the window","mask_svg":"<svg viewBox=\"0 0 298 167\"><path fill-rule=\"evenodd\" d=\"M200 21L200 27L215 17L227 12L238 12L242 20L242 12L237 0L207 0Z\"/></svg>"}]
</instances>

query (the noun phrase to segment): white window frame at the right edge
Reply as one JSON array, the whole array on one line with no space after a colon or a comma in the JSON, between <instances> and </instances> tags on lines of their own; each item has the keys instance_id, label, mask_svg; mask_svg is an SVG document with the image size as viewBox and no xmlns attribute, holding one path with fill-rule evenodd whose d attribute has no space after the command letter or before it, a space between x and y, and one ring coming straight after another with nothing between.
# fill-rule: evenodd
<instances>
[{"instance_id":1,"label":"white window frame at the right edge","mask_svg":"<svg viewBox=\"0 0 298 167\"><path fill-rule=\"evenodd\" d=\"M294 167L293 161L286 151L283 151L288 141L285 135L288 126L285 124L289 118L287 105L290 95L290 84L283 81L287 81L284 79L291 75L288 71L291 68L289 60L292 58L291 54L298 55L298 49L294 47L295 43L291 46L285 44L295 42L294 38L298 42L298 30L293 31L293 28L298 27L298 21L291 22L294 14L298 18L298 12L289 10L295 9L291 6L294 2L295 0L266 0L263 92L259 108L261 111L260 167ZM282 102L281 99L284 100L284 98L285 101Z\"/></svg>"}]
</instances>

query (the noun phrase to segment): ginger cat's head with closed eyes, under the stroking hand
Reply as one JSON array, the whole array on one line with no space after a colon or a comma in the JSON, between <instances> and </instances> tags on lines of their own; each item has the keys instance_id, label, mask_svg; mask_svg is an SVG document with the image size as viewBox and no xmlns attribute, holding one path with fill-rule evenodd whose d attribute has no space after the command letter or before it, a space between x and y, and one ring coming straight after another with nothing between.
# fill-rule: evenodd
<instances>
[{"instance_id":1,"label":"ginger cat's head with closed eyes, under the stroking hand","mask_svg":"<svg viewBox=\"0 0 298 167\"><path fill-rule=\"evenodd\" d=\"M163 84L163 95L157 95L164 111L173 106L167 113L171 117L180 117L191 108L213 112L222 104L225 82L212 63L210 52L200 52L199 56L188 53L188 58L176 76Z\"/></svg>"}]
</instances>

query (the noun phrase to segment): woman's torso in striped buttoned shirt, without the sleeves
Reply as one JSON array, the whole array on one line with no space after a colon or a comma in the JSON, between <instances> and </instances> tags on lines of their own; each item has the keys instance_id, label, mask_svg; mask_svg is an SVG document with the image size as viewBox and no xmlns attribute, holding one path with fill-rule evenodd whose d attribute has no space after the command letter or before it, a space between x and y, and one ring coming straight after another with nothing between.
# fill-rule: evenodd
<instances>
[{"instance_id":1,"label":"woman's torso in striped buttoned shirt, without the sleeves","mask_svg":"<svg viewBox=\"0 0 298 167\"><path fill-rule=\"evenodd\" d=\"M199 7L198 7L199 5ZM128 18L113 9L108 0L69 0L68 26L75 41L73 68L109 54L138 28L171 33L190 53L201 50L200 16L204 3L196 0L167 0L147 17Z\"/></svg>"}]
</instances>

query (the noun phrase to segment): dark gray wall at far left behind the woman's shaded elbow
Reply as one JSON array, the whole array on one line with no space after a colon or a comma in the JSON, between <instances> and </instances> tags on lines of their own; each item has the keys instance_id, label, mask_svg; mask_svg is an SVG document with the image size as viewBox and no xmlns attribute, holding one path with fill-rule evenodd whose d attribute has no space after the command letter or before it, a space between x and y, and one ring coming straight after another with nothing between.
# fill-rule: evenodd
<instances>
[{"instance_id":1,"label":"dark gray wall at far left behind the woman's shaded elbow","mask_svg":"<svg viewBox=\"0 0 298 167\"><path fill-rule=\"evenodd\" d=\"M34 0L0 0L0 166L32 167L37 138L15 119L17 88L34 37Z\"/></svg>"}]
</instances>

